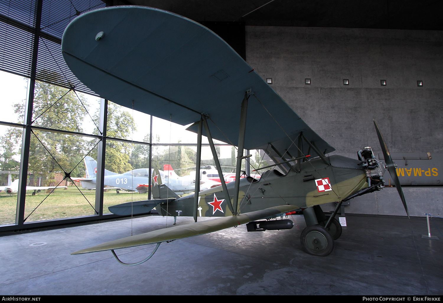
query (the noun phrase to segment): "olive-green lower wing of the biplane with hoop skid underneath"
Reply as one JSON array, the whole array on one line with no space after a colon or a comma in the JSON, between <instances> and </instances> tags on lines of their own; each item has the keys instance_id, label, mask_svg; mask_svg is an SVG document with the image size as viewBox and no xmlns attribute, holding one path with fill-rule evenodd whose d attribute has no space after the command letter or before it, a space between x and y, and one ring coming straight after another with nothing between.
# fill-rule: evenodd
<instances>
[{"instance_id":1,"label":"olive-green lower wing of the biplane with hoop skid underneath","mask_svg":"<svg viewBox=\"0 0 443 303\"><path fill-rule=\"evenodd\" d=\"M174 226L165 229L154 230L140 235L130 236L123 239L106 242L87 249L82 249L71 255L82 253L95 253L111 249L122 249L133 246L148 245L153 243L161 243L187 237L194 237L205 233L212 233L221 229L246 224L251 221L272 217L278 214L287 213L299 209L298 206L285 205L267 208L264 210L256 210L238 216L228 216L208 221L201 221L180 226Z\"/></svg>"}]
</instances>

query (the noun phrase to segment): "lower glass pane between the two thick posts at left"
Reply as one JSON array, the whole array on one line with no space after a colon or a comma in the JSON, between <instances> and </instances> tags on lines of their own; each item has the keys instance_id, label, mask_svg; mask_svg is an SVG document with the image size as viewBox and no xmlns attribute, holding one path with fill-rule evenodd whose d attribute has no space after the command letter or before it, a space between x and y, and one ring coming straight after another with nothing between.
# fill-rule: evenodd
<instances>
[{"instance_id":1,"label":"lower glass pane between the two thick posts at left","mask_svg":"<svg viewBox=\"0 0 443 303\"><path fill-rule=\"evenodd\" d=\"M71 218L95 213L95 192L80 185L85 155L97 139L33 130L29 147L24 221Z\"/></svg>"}]
</instances>

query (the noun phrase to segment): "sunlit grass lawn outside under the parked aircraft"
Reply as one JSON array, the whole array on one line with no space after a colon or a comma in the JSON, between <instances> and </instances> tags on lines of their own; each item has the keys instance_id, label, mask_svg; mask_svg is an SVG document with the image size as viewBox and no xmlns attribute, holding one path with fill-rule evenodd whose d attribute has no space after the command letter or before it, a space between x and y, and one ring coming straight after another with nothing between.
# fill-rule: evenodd
<instances>
[{"instance_id":1,"label":"sunlit grass lawn outside under the parked aircraft","mask_svg":"<svg viewBox=\"0 0 443 303\"><path fill-rule=\"evenodd\" d=\"M45 193L44 190L35 196L31 193L32 191L28 190L26 194L25 218L28 216L29 218L27 218L25 222L94 214L95 190L82 189L84 196L75 186L68 187L66 190L56 189L49 195ZM109 214L109 206L146 199L148 199L148 194L139 194L138 192L128 193L123 191L120 191L120 194L117 194L116 190L105 191L103 198L103 213ZM89 205L88 201L93 207ZM9 195L0 192L0 225L14 224L16 220L16 208L17 194Z\"/></svg>"}]
</instances>

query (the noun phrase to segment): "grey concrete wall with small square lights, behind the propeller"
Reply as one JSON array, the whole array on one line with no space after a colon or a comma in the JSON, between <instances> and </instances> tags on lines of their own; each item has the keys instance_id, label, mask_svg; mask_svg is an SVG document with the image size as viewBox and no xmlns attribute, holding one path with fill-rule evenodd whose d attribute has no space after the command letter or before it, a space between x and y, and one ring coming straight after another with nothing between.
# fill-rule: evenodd
<instances>
[{"instance_id":1,"label":"grey concrete wall with small square lights, behind the propeller","mask_svg":"<svg viewBox=\"0 0 443 303\"><path fill-rule=\"evenodd\" d=\"M334 153L356 158L365 146L380 152L373 119L391 152L443 151L442 31L247 26L246 59ZM413 216L430 212L429 204L442 214L443 188L405 190L414 193L414 205L426 200ZM361 197L372 201L354 211L400 214L379 207L394 199L390 191Z\"/></svg>"}]
</instances>

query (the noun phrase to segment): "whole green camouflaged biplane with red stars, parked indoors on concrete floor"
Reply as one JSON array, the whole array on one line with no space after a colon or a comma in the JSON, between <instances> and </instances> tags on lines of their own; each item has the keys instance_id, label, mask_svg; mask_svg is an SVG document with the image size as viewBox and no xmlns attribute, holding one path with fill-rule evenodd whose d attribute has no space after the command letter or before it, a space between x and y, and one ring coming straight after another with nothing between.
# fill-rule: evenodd
<instances>
[{"instance_id":1,"label":"whole green camouflaged biplane with red stars, parked indoors on concrete floor","mask_svg":"<svg viewBox=\"0 0 443 303\"><path fill-rule=\"evenodd\" d=\"M119 105L187 125L198 134L199 178L203 128L218 174L213 139L238 147L235 182L177 197L164 184L153 185L156 209L165 216L193 216L194 223L159 229L82 249L92 253L193 237L245 224L248 231L289 229L284 214L300 212L307 227L301 244L326 256L340 237L334 218L342 202L381 190L387 168L406 202L385 141L374 121L385 155L379 162L369 147L359 159L326 154L335 149L218 35L185 17L156 8L121 6L86 12L74 19L62 39L62 53L73 73L90 89ZM260 121L260 123L256 123ZM280 166L260 179L240 178L244 149L262 149ZM158 179L157 179L158 180ZM338 202L326 217L320 205ZM141 202L140 202L141 203ZM199 216L220 217L198 221ZM271 220L275 219L275 220ZM119 260L120 262L120 260ZM120 262L122 263L122 262ZM123 264L123 263L122 263ZM126 264L128 265L128 264Z\"/></svg>"}]
</instances>

